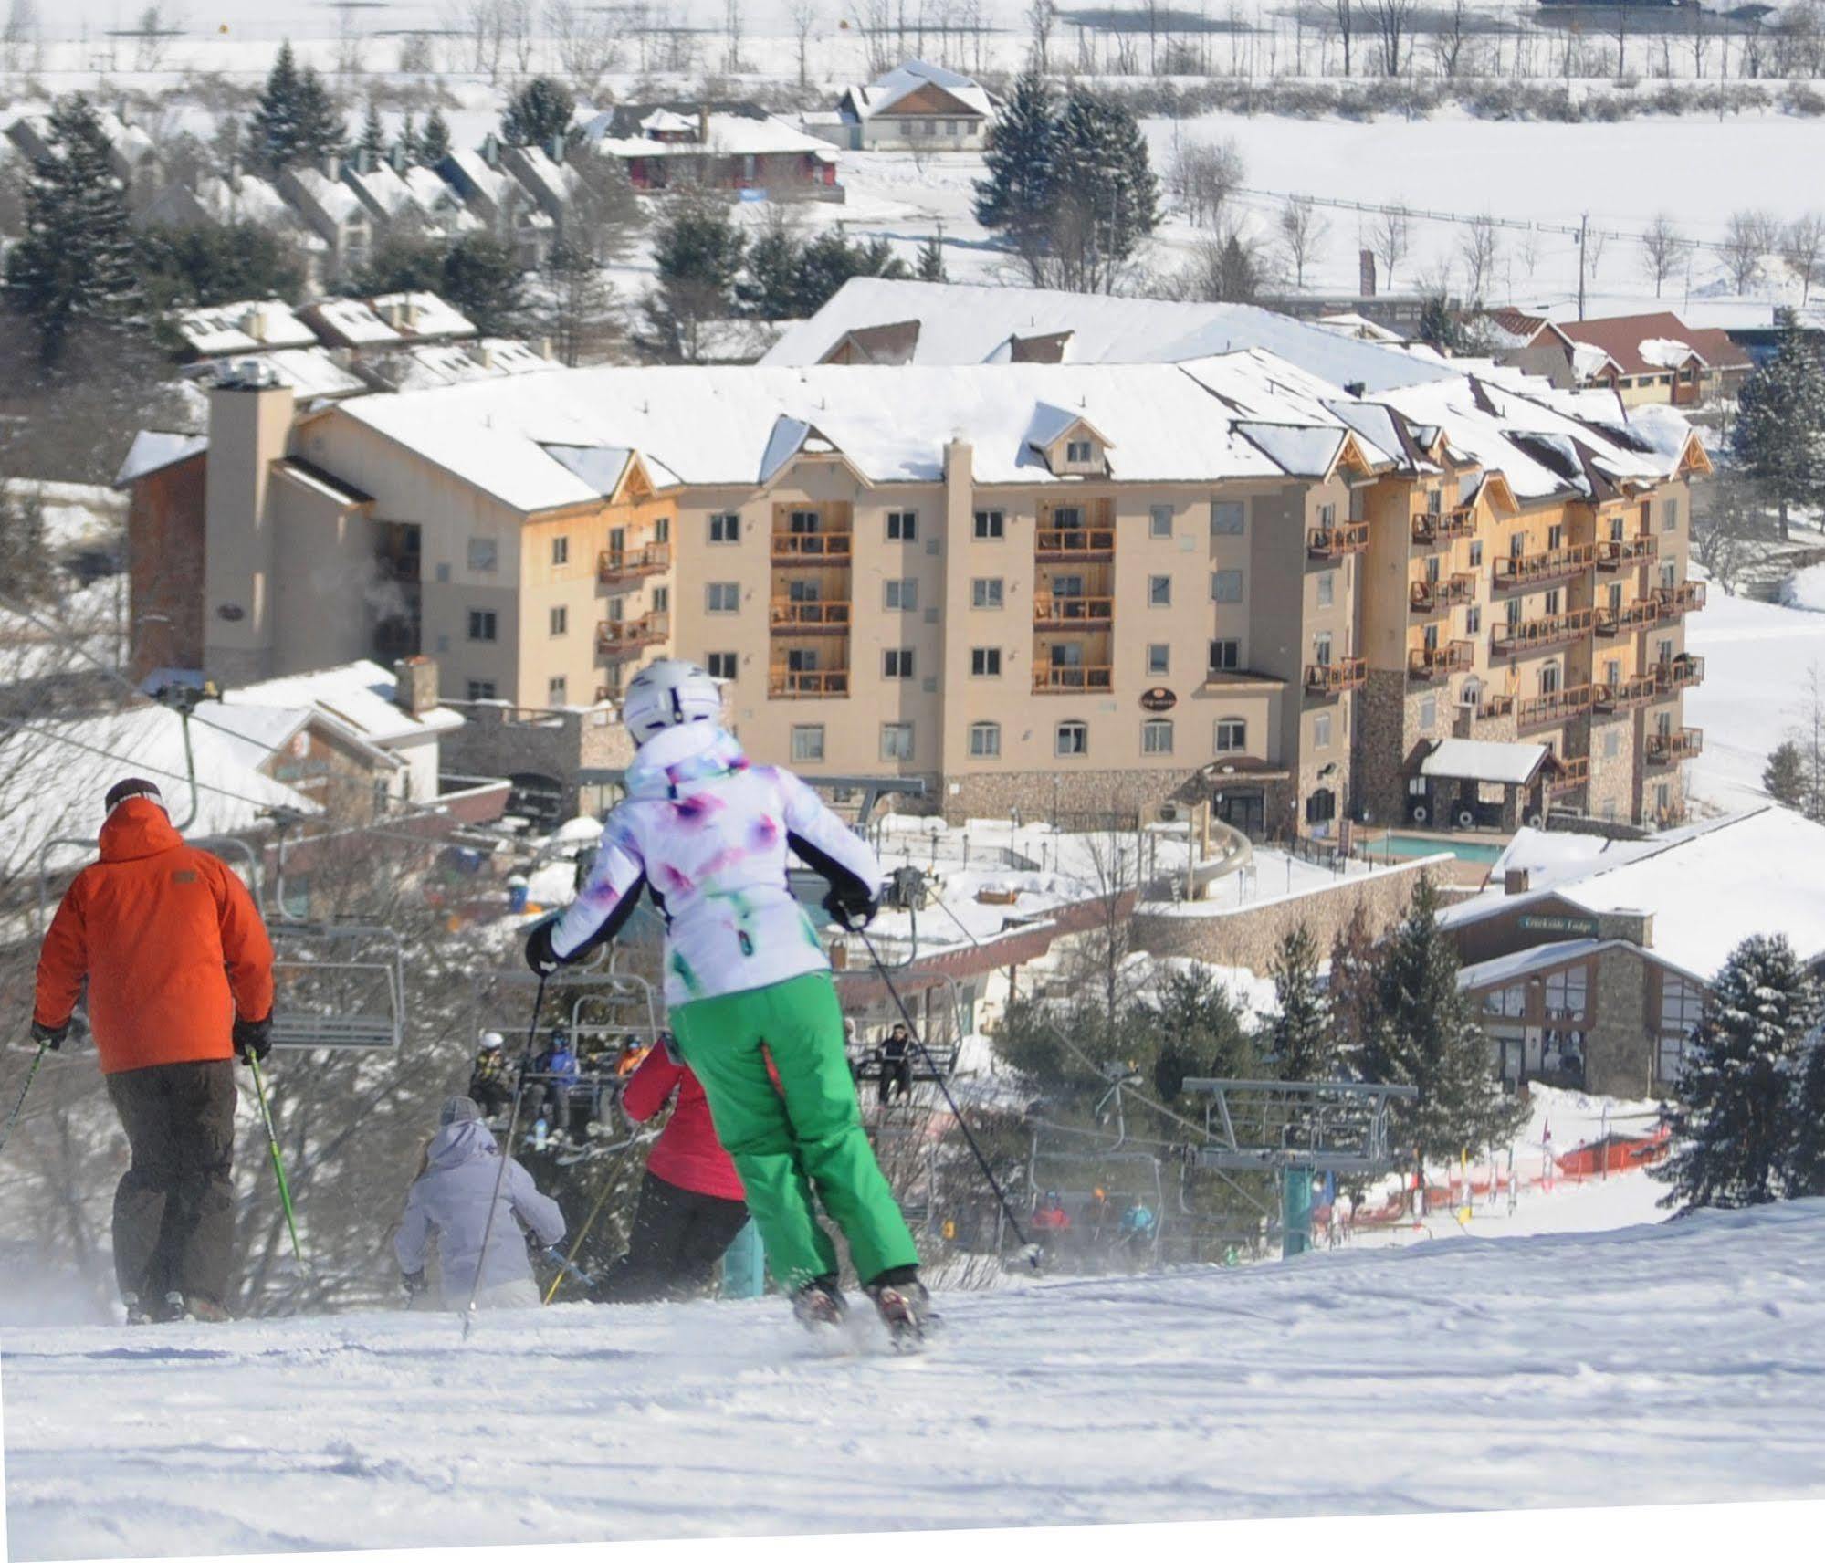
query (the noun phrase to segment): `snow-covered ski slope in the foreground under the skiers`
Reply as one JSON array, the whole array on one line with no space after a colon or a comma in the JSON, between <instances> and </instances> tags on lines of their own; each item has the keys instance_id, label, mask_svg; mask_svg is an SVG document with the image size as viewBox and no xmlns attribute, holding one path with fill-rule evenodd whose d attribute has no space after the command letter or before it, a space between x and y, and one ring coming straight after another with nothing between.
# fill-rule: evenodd
<instances>
[{"instance_id":1,"label":"snow-covered ski slope in the foreground under the skiers","mask_svg":"<svg viewBox=\"0 0 1825 1563\"><path fill-rule=\"evenodd\" d=\"M944 1304L16 1331L13 1556L1825 1494L1825 1201Z\"/></svg>"}]
</instances>

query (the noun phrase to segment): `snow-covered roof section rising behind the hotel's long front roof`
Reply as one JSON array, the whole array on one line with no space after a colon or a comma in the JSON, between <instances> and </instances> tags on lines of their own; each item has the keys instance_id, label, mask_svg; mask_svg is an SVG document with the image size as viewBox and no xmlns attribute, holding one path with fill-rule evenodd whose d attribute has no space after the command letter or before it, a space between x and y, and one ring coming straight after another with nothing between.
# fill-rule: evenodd
<instances>
[{"instance_id":1,"label":"snow-covered roof section rising behind the hotel's long front roof","mask_svg":"<svg viewBox=\"0 0 1825 1563\"><path fill-rule=\"evenodd\" d=\"M1263 347L1336 391L1361 383L1380 393L1460 376L1455 367L1254 305L885 278L850 278L818 314L787 327L761 363L821 363L849 332L902 321L918 327L912 363L987 363L1009 338L1068 332L1069 363L1183 363Z\"/></svg>"}]
</instances>

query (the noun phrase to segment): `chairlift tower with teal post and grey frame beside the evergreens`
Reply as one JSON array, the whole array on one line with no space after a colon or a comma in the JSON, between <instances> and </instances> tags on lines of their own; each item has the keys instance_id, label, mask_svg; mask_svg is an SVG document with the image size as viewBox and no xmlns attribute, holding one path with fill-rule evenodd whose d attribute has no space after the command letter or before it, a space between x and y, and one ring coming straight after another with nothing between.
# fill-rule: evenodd
<instances>
[{"instance_id":1,"label":"chairlift tower with teal post and grey frame beside the evergreens","mask_svg":"<svg viewBox=\"0 0 1825 1563\"><path fill-rule=\"evenodd\" d=\"M1389 1105L1418 1101L1411 1085L1349 1081L1188 1079L1204 1105L1206 1145L1197 1165L1279 1174L1279 1253L1312 1245L1312 1178L1374 1176L1403 1165L1389 1132Z\"/></svg>"}]
</instances>

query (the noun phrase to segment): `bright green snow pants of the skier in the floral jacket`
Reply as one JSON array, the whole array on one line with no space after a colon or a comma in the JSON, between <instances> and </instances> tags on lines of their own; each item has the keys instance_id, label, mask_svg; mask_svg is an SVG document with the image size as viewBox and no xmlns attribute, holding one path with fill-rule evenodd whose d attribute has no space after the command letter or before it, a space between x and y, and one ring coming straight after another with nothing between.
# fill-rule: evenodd
<instances>
[{"instance_id":1,"label":"bright green snow pants of the skier in the floral jacket","mask_svg":"<svg viewBox=\"0 0 1825 1563\"><path fill-rule=\"evenodd\" d=\"M861 1132L843 1012L827 973L695 999L672 1012L672 1032L703 1083L715 1138L741 1172L766 1264L783 1285L836 1275L836 1247L812 1211L812 1185L849 1238L863 1282L918 1264ZM779 1090L766 1074L768 1055Z\"/></svg>"}]
</instances>

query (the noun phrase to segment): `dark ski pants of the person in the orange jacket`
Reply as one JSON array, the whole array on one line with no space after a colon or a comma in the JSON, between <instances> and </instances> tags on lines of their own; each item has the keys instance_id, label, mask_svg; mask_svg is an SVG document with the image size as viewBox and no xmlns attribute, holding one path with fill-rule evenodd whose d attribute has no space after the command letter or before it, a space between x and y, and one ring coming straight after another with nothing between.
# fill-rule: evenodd
<instances>
[{"instance_id":1,"label":"dark ski pants of the person in the orange jacket","mask_svg":"<svg viewBox=\"0 0 1825 1563\"><path fill-rule=\"evenodd\" d=\"M166 1293L226 1306L234 1253L234 1063L108 1075L133 1161L115 1189L115 1278L148 1306Z\"/></svg>"}]
</instances>

